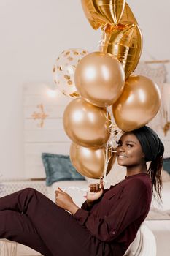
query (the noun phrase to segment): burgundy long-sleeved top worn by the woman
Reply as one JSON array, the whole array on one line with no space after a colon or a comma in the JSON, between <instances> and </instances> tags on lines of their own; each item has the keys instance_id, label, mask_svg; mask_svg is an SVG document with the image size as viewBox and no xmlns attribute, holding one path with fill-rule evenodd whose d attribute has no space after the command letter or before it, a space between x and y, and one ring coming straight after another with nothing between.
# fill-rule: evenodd
<instances>
[{"instance_id":1,"label":"burgundy long-sleeved top worn by the woman","mask_svg":"<svg viewBox=\"0 0 170 256\"><path fill-rule=\"evenodd\" d=\"M152 197L151 180L147 173L127 176L123 181L104 189L104 194L88 208L87 203L74 214L74 218L99 241L104 242L101 255L123 255L134 241L137 230L147 217Z\"/></svg>"}]
</instances>

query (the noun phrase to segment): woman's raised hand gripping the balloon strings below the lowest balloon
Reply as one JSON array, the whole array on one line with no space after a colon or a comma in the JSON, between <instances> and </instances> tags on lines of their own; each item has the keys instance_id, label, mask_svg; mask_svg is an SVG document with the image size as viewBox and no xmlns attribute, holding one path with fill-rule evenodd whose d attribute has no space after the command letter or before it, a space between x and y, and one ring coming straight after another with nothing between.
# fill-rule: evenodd
<instances>
[{"instance_id":1,"label":"woman's raised hand gripping the balloon strings below the lowest balloon","mask_svg":"<svg viewBox=\"0 0 170 256\"><path fill-rule=\"evenodd\" d=\"M103 178L100 178L100 184L90 184L89 192L87 193L87 203L90 206L94 201L98 200L98 198L103 195L104 192L104 181Z\"/></svg>"}]
</instances>

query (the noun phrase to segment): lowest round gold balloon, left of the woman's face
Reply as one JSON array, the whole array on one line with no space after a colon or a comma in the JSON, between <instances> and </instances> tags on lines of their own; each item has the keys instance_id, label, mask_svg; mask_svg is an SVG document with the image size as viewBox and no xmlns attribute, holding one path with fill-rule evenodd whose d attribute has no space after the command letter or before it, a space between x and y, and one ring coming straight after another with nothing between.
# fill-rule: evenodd
<instances>
[{"instance_id":1,"label":"lowest round gold balloon, left of the woman's face","mask_svg":"<svg viewBox=\"0 0 170 256\"><path fill-rule=\"evenodd\" d=\"M82 174L82 176L86 176L88 178L100 178L104 176L104 166L106 160L106 148L85 148L79 146L75 143L72 143L70 146L70 159L72 161L72 165L76 168L76 170ZM107 167L107 173L112 168L114 163L112 157L112 161L109 163Z\"/></svg>"}]
</instances>

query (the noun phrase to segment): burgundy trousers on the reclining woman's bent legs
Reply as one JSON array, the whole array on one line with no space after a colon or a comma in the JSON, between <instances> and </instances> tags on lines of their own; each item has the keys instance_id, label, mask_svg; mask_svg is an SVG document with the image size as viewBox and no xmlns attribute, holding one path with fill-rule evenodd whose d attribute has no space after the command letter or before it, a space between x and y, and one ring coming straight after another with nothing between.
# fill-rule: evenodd
<instances>
[{"instance_id":1,"label":"burgundy trousers on the reclining woman's bent legs","mask_svg":"<svg viewBox=\"0 0 170 256\"><path fill-rule=\"evenodd\" d=\"M45 256L98 255L102 246L72 214L31 188L0 198L0 238Z\"/></svg>"}]
</instances>

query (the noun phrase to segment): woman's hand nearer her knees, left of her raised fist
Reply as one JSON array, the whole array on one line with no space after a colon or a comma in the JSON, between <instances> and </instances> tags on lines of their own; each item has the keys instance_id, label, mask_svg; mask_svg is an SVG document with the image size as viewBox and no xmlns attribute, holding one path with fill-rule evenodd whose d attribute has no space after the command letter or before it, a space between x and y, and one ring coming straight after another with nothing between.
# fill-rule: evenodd
<instances>
[{"instance_id":1,"label":"woman's hand nearer her knees, left of her raised fist","mask_svg":"<svg viewBox=\"0 0 170 256\"><path fill-rule=\"evenodd\" d=\"M55 203L64 210L69 211L71 214L75 214L79 209L79 207L73 202L72 197L70 197L66 192L63 192L59 187L55 190Z\"/></svg>"}]
</instances>

